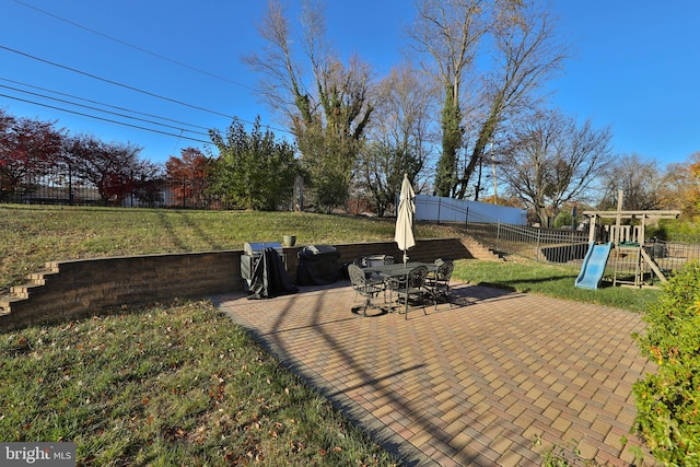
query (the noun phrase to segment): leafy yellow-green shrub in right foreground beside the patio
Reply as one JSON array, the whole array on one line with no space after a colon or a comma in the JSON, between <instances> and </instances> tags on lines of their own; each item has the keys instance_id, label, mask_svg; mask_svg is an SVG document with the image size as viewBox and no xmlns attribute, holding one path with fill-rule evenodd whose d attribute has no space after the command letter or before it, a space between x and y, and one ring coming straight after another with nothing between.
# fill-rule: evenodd
<instances>
[{"instance_id":1,"label":"leafy yellow-green shrub in right foreground beside the patio","mask_svg":"<svg viewBox=\"0 0 700 467\"><path fill-rule=\"evenodd\" d=\"M700 466L700 262L665 284L644 320L634 338L658 371L634 384L634 429L665 465Z\"/></svg>"}]
</instances>

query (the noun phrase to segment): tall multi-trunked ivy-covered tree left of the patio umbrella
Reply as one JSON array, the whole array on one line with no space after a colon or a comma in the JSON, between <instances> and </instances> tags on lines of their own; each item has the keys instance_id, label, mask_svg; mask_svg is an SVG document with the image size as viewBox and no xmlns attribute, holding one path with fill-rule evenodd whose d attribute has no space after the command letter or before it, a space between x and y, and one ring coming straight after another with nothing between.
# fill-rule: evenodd
<instances>
[{"instance_id":1,"label":"tall multi-trunked ivy-covered tree left of the patio umbrella","mask_svg":"<svg viewBox=\"0 0 700 467\"><path fill-rule=\"evenodd\" d=\"M343 65L325 40L324 8L305 1L300 42L291 48L292 27L279 1L268 3L258 27L268 47L244 57L261 75L260 94L291 127L317 201L327 208L348 196L352 167L373 107L369 66L358 58Z\"/></svg>"}]
</instances>

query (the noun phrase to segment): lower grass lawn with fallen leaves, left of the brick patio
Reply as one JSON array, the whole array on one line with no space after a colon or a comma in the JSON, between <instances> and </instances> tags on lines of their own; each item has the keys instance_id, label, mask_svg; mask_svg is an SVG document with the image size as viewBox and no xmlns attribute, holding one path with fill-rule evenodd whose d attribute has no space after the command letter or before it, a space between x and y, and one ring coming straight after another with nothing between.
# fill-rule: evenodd
<instances>
[{"instance_id":1,"label":"lower grass lawn with fallen leaves, left of the brick patio","mask_svg":"<svg viewBox=\"0 0 700 467\"><path fill-rule=\"evenodd\" d=\"M78 465L396 465L206 302L0 335L0 413Z\"/></svg>"}]
</instances>

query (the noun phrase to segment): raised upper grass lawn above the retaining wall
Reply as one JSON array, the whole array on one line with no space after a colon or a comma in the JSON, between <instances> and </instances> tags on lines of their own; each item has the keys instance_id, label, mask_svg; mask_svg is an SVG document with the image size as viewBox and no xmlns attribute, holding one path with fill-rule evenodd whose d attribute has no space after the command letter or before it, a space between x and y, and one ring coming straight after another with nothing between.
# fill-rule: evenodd
<instances>
[{"instance_id":1,"label":"raised upper grass lawn above the retaining wall","mask_svg":"<svg viewBox=\"0 0 700 467\"><path fill-rule=\"evenodd\" d=\"M47 261L152 253L242 249L245 242L390 242L392 219L301 212L185 211L0 205L0 292ZM455 236L417 226L422 238Z\"/></svg>"}]
</instances>

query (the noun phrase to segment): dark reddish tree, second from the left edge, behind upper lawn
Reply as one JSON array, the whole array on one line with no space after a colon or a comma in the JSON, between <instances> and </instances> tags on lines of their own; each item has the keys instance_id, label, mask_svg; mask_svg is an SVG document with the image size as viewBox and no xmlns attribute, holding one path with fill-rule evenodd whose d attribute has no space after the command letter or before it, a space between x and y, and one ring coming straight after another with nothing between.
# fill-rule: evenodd
<instances>
[{"instance_id":1,"label":"dark reddish tree, second from the left edge, behind upper lawn","mask_svg":"<svg viewBox=\"0 0 700 467\"><path fill-rule=\"evenodd\" d=\"M66 154L77 178L97 187L103 203L119 205L158 177L155 164L139 159L141 148L104 142L90 135L68 139Z\"/></svg>"}]
</instances>

